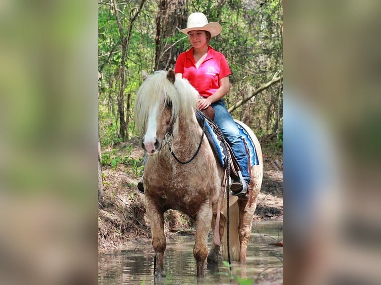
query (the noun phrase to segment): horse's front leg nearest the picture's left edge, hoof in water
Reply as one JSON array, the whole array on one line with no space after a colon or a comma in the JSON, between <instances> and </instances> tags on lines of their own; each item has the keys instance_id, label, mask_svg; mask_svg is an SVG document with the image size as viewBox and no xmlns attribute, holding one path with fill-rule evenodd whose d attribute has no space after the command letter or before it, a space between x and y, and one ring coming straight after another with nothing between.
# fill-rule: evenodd
<instances>
[{"instance_id":1,"label":"horse's front leg nearest the picture's left edge, hoof in water","mask_svg":"<svg viewBox=\"0 0 381 285\"><path fill-rule=\"evenodd\" d=\"M164 213L159 212L155 204L146 196L146 211L151 223L152 246L156 255L155 277L166 276L164 271L164 252L167 241L164 235Z\"/></svg>"}]
</instances>

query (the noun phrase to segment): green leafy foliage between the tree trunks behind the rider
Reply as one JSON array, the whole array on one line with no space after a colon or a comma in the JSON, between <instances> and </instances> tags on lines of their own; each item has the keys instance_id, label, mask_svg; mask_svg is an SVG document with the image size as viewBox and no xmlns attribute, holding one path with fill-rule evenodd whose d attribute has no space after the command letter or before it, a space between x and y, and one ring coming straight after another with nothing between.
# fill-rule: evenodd
<instances>
[{"instance_id":1,"label":"green leafy foliage between the tree trunks behind the rider","mask_svg":"<svg viewBox=\"0 0 381 285\"><path fill-rule=\"evenodd\" d=\"M260 85L270 81L283 70L282 58L282 1L189 0L188 14L203 12L209 21L221 23L222 33L213 38L210 45L222 52L232 75L231 88L225 97L228 106L251 94ZM118 2L122 22L122 34L128 34L131 18L140 2ZM130 105L124 102L128 131L135 134L133 102L142 82L141 72L152 73L155 65L155 36L158 3L146 0L143 9L131 28L128 44L124 95L130 96ZM175 27L171 27L176 29ZM181 40L182 33L165 38L168 45L178 50L190 48L188 39ZM99 69L103 74L99 83L99 126L102 146L120 142L117 94L120 92L120 62L122 41L113 8L109 1L99 0L98 9ZM177 42L178 41L178 42ZM172 66L173 68L173 66ZM130 111L129 113L127 111ZM280 84L263 91L232 113L233 117L246 123L258 134L269 134L282 129L282 88ZM279 140L282 143L282 138ZM279 145L278 145L279 147ZM117 163L120 163L116 160Z\"/></svg>"}]
</instances>

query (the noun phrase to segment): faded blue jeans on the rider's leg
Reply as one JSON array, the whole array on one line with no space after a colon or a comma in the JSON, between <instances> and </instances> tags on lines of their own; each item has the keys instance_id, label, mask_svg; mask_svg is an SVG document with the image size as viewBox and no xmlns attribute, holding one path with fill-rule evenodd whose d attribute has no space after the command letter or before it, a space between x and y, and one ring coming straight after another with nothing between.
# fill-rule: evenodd
<instances>
[{"instance_id":1,"label":"faded blue jeans on the rider's leg","mask_svg":"<svg viewBox=\"0 0 381 285\"><path fill-rule=\"evenodd\" d=\"M250 183L248 172L249 157L245 151L245 145L241 133L234 122L233 117L226 109L225 102L221 99L212 104L214 108L214 123L221 129L226 141L233 149L234 155L241 166L242 176L247 183Z\"/></svg>"}]
</instances>

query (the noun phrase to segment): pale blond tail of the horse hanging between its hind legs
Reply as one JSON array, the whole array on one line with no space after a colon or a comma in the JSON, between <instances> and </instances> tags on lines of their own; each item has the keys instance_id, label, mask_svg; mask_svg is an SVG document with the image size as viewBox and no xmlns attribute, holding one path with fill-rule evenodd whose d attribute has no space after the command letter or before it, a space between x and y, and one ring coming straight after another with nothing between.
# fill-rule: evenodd
<instances>
[{"instance_id":1,"label":"pale blond tail of the horse hanging between its hind legs","mask_svg":"<svg viewBox=\"0 0 381 285\"><path fill-rule=\"evenodd\" d=\"M226 211L224 211L224 216L226 217ZM238 225L239 225L239 208L238 203L234 203L229 208L229 225L226 224L223 234L222 242L222 257L224 260L228 260L227 250L227 228L229 227L229 251L232 261L238 261L240 242L238 236Z\"/></svg>"}]
</instances>

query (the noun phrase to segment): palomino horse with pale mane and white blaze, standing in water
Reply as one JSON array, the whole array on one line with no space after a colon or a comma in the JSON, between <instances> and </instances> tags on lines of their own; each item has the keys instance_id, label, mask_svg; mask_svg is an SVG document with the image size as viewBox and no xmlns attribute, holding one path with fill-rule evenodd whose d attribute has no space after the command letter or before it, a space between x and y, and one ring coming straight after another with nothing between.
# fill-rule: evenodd
<instances>
[{"instance_id":1,"label":"palomino horse with pale mane and white blaze, standing in water","mask_svg":"<svg viewBox=\"0 0 381 285\"><path fill-rule=\"evenodd\" d=\"M144 134L142 146L147 154L144 167L145 204L151 223L157 277L165 276L163 215L168 209L179 210L195 220L193 255L197 261L197 277L204 276L207 257L208 263L218 263L220 236L224 235L227 220L223 214L226 209L217 215L217 212L223 211L220 205L223 204L224 170L216 162L196 120L197 98L198 92L186 79L175 80L172 69L149 75L136 94L135 122L137 129ZM241 263L246 261L251 222L262 183L262 154L258 140L255 140L260 165L251 167L250 194L239 198L230 196L233 205L229 208L232 221L229 243L232 249L236 249L233 258ZM177 159L171 154L175 154ZM215 224L216 220L219 220L219 226L216 227L216 238L213 233L208 255L207 237L211 224ZM225 246L226 241L222 244Z\"/></svg>"}]
</instances>

